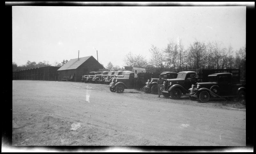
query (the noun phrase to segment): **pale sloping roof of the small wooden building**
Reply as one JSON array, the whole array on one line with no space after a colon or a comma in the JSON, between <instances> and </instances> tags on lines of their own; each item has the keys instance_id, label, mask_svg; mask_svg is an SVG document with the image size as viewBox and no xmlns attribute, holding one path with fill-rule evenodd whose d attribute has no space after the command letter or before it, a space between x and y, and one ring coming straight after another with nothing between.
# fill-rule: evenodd
<instances>
[{"instance_id":1,"label":"pale sloping roof of the small wooden building","mask_svg":"<svg viewBox=\"0 0 256 154\"><path fill-rule=\"evenodd\" d=\"M81 57L81 58L76 58L76 59L70 59L67 63L65 63L60 69L58 70L72 70L72 69L77 69L80 65L82 65L85 61L87 61L91 56L87 57Z\"/></svg>"}]
</instances>

